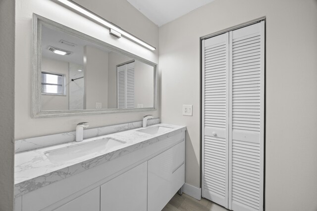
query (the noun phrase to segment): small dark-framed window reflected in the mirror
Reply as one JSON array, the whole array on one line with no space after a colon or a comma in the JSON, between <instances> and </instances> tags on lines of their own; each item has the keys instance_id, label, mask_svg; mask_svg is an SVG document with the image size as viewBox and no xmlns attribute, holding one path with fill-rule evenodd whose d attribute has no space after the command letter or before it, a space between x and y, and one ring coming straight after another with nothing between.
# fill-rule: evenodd
<instances>
[{"instance_id":1,"label":"small dark-framed window reflected in the mirror","mask_svg":"<svg viewBox=\"0 0 317 211\"><path fill-rule=\"evenodd\" d=\"M65 75L42 72L42 94L65 95Z\"/></svg>"}]
</instances>

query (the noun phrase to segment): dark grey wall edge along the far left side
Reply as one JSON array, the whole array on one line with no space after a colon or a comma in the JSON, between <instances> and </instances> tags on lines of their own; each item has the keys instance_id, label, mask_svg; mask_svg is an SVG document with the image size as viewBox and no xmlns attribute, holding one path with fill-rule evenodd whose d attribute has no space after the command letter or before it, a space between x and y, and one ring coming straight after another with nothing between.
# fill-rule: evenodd
<instances>
[{"instance_id":1,"label":"dark grey wall edge along the far left side","mask_svg":"<svg viewBox=\"0 0 317 211\"><path fill-rule=\"evenodd\" d=\"M0 211L13 210L14 0L0 0Z\"/></svg>"}]
</instances>

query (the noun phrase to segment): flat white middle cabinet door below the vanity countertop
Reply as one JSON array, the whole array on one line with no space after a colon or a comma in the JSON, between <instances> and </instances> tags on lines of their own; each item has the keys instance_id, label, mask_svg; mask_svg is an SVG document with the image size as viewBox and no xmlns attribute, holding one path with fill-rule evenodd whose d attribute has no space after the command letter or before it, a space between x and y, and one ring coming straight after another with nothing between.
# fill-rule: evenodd
<instances>
[{"instance_id":1,"label":"flat white middle cabinet door below the vanity countertop","mask_svg":"<svg viewBox=\"0 0 317 211\"><path fill-rule=\"evenodd\" d=\"M101 211L147 210L147 162L101 186Z\"/></svg>"}]
</instances>

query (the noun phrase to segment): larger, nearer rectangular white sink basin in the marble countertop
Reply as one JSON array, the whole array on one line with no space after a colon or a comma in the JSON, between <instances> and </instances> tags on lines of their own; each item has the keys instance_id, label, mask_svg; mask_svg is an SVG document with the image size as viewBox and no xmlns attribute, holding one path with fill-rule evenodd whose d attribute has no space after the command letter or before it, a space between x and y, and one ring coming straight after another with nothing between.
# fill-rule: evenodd
<instances>
[{"instance_id":1,"label":"larger, nearer rectangular white sink basin in the marble countertop","mask_svg":"<svg viewBox=\"0 0 317 211\"><path fill-rule=\"evenodd\" d=\"M66 162L76 158L84 157L92 153L106 151L115 146L124 144L124 141L120 141L114 138L106 137L86 143L80 143L73 146L62 147L49 152L45 155L53 163Z\"/></svg>"}]
</instances>

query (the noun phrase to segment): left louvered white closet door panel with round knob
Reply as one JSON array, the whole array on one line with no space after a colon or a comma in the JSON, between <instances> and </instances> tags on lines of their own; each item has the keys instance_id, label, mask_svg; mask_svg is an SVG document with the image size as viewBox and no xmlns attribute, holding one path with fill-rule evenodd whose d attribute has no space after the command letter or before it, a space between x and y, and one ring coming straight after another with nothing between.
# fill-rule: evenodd
<instances>
[{"instance_id":1,"label":"left louvered white closet door panel with round knob","mask_svg":"<svg viewBox=\"0 0 317 211\"><path fill-rule=\"evenodd\" d=\"M203 41L202 196L228 207L228 33Z\"/></svg>"}]
</instances>

